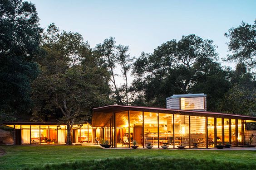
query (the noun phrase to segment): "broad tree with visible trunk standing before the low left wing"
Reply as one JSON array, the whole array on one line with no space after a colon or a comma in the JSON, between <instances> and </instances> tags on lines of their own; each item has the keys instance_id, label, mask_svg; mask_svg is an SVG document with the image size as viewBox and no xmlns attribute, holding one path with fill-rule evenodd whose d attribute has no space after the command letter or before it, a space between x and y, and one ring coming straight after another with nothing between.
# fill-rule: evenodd
<instances>
[{"instance_id":1,"label":"broad tree with visible trunk standing before the low left wing","mask_svg":"<svg viewBox=\"0 0 256 170\"><path fill-rule=\"evenodd\" d=\"M59 33L51 24L43 40L45 55L33 85L34 119L60 112L59 121L67 124L66 144L71 145L73 125L89 120L94 107L110 103L108 71L79 33Z\"/></svg>"}]
</instances>

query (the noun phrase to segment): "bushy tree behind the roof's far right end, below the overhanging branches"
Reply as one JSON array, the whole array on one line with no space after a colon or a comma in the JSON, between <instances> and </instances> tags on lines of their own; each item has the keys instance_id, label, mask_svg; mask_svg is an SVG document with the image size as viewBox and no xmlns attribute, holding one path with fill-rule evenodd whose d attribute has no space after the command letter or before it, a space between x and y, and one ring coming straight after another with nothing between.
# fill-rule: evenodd
<instances>
[{"instance_id":1,"label":"bushy tree behind the roof's far right end, below the overhanging branches","mask_svg":"<svg viewBox=\"0 0 256 170\"><path fill-rule=\"evenodd\" d=\"M238 63L231 71L231 85L221 104L222 111L256 116L256 80L244 63Z\"/></svg>"}]
</instances>

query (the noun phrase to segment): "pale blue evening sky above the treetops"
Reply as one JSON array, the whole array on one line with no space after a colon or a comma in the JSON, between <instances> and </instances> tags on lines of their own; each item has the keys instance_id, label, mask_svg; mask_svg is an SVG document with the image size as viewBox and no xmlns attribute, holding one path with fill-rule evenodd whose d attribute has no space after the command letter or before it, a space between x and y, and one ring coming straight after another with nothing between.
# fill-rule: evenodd
<instances>
[{"instance_id":1,"label":"pale blue evening sky above the treetops","mask_svg":"<svg viewBox=\"0 0 256 170\"><path fill-rule=\"evenodd\" d=\"M241 21L253 24L256 0L31 0L41 27L55 23L78 32L94 47L110 36L128 45L131 56L153 52L163 42L196 34L212 39L226 57L224 33ZM232 63L222 65L234 66Z\"/></svg>"}]
</instances>

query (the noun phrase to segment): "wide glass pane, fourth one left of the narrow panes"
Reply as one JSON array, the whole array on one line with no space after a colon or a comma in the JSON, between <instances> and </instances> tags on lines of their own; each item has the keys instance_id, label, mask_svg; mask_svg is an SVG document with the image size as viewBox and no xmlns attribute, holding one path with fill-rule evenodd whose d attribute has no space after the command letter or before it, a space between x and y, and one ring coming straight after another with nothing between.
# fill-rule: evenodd
<instances>
[{"instance_id":1,"label":"wide glass pane, fourth one left of the narrow panes","mask_svg":"<svg viewBox=\"0 0 256 170\"><path fill-rule=\"evenodd\" d=\"M158 113L144 112L145 145L158 147Z\"/></svg>"}]
</instances>

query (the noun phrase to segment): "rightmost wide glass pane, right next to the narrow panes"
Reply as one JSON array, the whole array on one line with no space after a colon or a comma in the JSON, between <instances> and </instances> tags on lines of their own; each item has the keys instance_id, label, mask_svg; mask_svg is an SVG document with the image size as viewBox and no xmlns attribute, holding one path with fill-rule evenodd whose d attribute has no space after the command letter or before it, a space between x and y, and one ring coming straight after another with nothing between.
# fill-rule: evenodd
<instances>
[{"instance_id":1,"label":"rightmost wide glass pane, right next to the narrow panes","mask_svg":"<svg viewBox=\"0 0 256 170\"><path fill-rule=\"evenodd\" d=\"M190 116L190 141L193 148L206 147L205 117Z\"/></svg>"}]
</instances>

